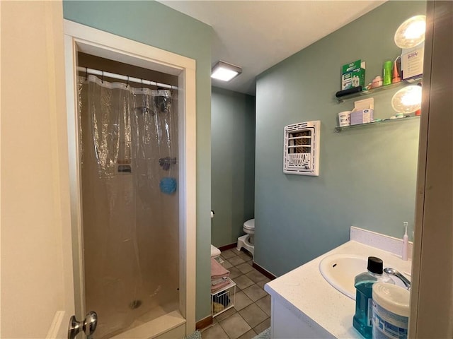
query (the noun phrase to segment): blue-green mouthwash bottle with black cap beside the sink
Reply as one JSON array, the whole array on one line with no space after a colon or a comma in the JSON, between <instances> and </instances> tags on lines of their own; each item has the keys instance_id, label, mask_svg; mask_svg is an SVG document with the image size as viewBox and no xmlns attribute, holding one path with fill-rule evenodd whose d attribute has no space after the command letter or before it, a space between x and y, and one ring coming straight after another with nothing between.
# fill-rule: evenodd
<instances>
[{"instance_id":1,"label":"blue-green mouthwash bottle with black cap beside the sink","mask_svg":"<svg viewBox=\"0 0 453 339\"><path fill-rule=\"evenodd\" d=\"M355 315L352 318L352 326L367 339L372 338L373 284L377 282L394 284L394 280L383 274L383 266L380 258L369 256L368 271L355 277Z\"/></svg>"}]
</instances>

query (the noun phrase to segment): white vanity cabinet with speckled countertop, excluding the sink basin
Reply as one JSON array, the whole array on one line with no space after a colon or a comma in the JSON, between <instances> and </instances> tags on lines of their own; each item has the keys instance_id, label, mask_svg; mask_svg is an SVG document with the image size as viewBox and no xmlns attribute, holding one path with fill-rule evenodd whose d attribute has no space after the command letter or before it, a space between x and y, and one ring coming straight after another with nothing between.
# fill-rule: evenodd
<instances>
[{"instance_id":1,"label":"white vanity cabinet with speckled countertop, excluding the sink basin","mask_svg":"<svg viewBox=\"0 0 453 339\"><path fill-rule=\"evenodd\" d=\"M394 244L384 246L387 249L384 251L374 247L376 242L369 246L351 240L267 283L264 289L270 294L272 303L271 338L362 338L352 327L355 301L323 278L319 263L332 254L353 254L364 258L377 256L384 261L384 267L410 273L411 261L402 261L398 254L401 240L392 238L391 242Z\"/></svg>"}]
</instances>

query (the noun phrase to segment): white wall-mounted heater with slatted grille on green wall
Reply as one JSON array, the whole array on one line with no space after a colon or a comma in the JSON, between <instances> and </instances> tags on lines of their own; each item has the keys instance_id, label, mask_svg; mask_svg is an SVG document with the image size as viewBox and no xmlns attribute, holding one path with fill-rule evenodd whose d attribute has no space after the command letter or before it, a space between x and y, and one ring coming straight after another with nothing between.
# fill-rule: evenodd
<instances>
[{"instance_id":1,"label":"white wall-mounted heater with slatted grille on green wall","mask_svg":"<svg viewBox=\"0 0 453 339\"><path fill-rule=\"evenodd\" d=\"M283 172L319 175L319 136L321 121L306 121L285 126Z\"/></svg>"}]
</instances>

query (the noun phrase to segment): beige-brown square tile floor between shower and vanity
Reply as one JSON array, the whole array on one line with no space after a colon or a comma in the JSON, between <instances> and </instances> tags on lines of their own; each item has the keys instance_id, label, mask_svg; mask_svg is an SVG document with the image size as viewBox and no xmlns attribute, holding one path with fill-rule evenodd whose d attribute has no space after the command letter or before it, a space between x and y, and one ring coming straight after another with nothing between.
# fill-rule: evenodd
<instances>
[{"instance_id":1,"label":"beige-brown square tile floor between shower and vanity","mask_svg":"<svg viewBox=\"0 0 453 339\"><path fill-rule=\"evenodd\" d=\"M263 290L270 280L252 267L246 251L228 249L220 255L236 283L234 307L214 316L202 330L202 339L249 339L270 326L270 295Z\"/></svg>"}]
</instances>

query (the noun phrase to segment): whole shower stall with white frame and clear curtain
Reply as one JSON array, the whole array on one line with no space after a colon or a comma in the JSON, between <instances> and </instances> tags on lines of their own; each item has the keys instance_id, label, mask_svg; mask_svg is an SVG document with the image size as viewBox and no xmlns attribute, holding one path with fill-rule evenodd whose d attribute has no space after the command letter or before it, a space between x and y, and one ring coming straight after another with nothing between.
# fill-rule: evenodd
<instances>
[{"instance_id":1,"label":"whole shower stall with white frame and clear curtain","mask_svg":"<svg viewBox=\"0 0 453 339\"><path fill-rule=\"evenodd\" d=\"M130 77L80 72L82 54ZM69 307L76 319L96 311L98 339L184 338L195 331L195 60L69 20L64 55Z\"/></svg>"}]
</instances>

